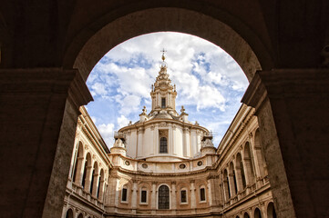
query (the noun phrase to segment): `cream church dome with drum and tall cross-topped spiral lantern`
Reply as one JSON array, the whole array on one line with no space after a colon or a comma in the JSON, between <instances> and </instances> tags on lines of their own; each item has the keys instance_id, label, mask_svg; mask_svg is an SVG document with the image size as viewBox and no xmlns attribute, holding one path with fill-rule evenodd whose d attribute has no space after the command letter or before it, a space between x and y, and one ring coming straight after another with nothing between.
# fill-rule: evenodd
<instances>
[{"instance_id":1,"label":"cream church dome with drum and tall cross-topped spiral lantern","mask_svg":"<svg viewBox=\"0 0 329 218\"><path fill-rule=\"evenodd\" d=\"M177 162L201 154L201 139L209 131L198 123L191 123L184 106L181 106L180 114L177 113L176 96L176 85L171 84L162 54L159 74L151 86L149 114L144 106L138 122L118 131L124 135L123 144L129 157L144 161ZM209 142L206 143L203 143L207 145L207 149L202 150L204 154L211 153L213 148L213 145L208 147ZM115 147L119 146L122 144L118 141Z\"/></svg>"}]
</instances>

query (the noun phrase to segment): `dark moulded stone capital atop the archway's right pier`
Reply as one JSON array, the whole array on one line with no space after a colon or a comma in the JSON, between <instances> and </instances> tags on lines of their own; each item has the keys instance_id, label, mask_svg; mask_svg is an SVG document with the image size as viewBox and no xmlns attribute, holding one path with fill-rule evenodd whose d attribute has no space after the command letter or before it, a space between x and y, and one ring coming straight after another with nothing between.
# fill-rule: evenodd
<instances>
[{"instance_id":1,"label":"dark moulded stone capital atop the archway's right pier","mask_svg":"<svg viewBox=\"0 0 329 218\"><path fill-rule=\"evenodd\" d=\"M257 71L242 103L257 109L265 98L282 99L329 94L329 69L274 69Z\"/></svg>"}]
</instances>

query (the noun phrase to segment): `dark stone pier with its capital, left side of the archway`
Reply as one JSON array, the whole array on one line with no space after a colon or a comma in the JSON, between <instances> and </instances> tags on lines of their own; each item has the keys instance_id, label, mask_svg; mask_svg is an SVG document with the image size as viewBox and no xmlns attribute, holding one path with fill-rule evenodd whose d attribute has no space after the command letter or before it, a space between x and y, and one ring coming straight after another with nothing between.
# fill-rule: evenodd
<instances>
[{"instance_id":1,"label":"dark stone pier with its capital, left side of the archway","mask_svg":"<svg viewBox=\"0 0 329 218\"><path fill-rule=\"evenodd\" d=\"M60 217L78 107L77 70L0 70L0 204L4 217Z\"/></svg>"}]
</instances>

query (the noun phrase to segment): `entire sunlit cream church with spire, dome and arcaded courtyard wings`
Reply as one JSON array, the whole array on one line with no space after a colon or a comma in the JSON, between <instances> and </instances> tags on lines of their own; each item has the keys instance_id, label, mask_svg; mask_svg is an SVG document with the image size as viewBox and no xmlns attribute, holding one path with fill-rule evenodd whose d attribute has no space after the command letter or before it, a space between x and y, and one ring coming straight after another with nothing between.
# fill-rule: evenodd
<instances>
[{"instance_id":1,"label":"entire sunlit cream church with spire, dome and arcaded courtyard wings","mask_svg":"<svg viewBox=\"0 0 329 218\"><path fill-rule=\"evenodd\" d=\"M257 117L242 104L218 147L181 106L162 55L151 111L108 150L80 108L63 218L276 217Z\"/></svg>"}]
</instances>

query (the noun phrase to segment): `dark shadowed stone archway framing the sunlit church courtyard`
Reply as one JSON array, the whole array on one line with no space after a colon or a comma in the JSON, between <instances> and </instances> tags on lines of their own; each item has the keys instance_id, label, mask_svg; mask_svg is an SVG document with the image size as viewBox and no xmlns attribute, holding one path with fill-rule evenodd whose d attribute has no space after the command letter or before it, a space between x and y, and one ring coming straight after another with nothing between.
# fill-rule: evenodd
<instances>
[{"instance_id":1,"label":"dark shadowed stone archway framing the sunlit church courtyard","mask_svg":"<svg viewBox=\"0 0 329 218\"><path fill-rule=\"evenodd\" d=\"M243 46L239 49L244 52L252 51L259 64L252 63L254 59L243 59L234 54L234 50L239 50L237 47L233 49L234 43L239 43L233 37L234 34L226 35L231 39L224 38L224 42L233 42L228 47L221 47L234 57L244 72L251 72L247 75L250 81L255 69L267 70L256 74L242 101L256 108L270 182L276 184L272 187L273 195L278 199L275 201L278 215L294 217L296 211L298 216L311 217L326 212L327 203L322 199L328 191L328 171L318 167L328 163L328 136L323 133L326 133L329 124L328 116L325 115L329 104L328 70L319 68L321 44L324 37L327 37L323 34L327 30L324 28L324 24L327 26L327 19L323 19L322 15L328 13L320 10L324 8L321 3L301 3L294 6L288 1L250 1L244 3L248 4L246 7L242 4L243 1L220 2L221 5L216 5L215 1L145 0L131 1L133 3L127 4L127 10L122 9L126 7L124 4L109 4L98 14L81 15L77 11L87 11L89 3L86 1L86 5L80 1L67 1L58 5L57 2L49 2L44 1L42 5L6 4L2 8L10 30L7 33L11 33L10 36L0 36L4 54L1 66L8 67L1 72L1 81L5 84L1 86L1 97L5 102L0 111L5 114L2 117L2 126L5 126L2 136L5 144L21 146L2 146L2 154L6 158L1 165L3 169L11 167L13 172L23 169L19 176L9 172L8 178L13 179L4 182L3 190L8 190L3 193L4 199L13 199L6 201L5 206L15 206L15 210L7 210L7 216L24 216L29 213L39 217L43 213L45 217L49 217L62 206L65 189L57 190L56 187L65 186L66 179L58 178L68 175L68 167L61 167L59 163L69 165L77 108L91 100L91 96L87 96L87 87L83 86L84 81L93 65L105 54L104 51L97 51L100 47L107 45L104 49L108 50L130 37L168 30L199 35L221 45L216 43L216 39L221 40L216 33L212 35L204 32L202 35L200 25L205 25L207 20L195 19L194 23L190 22L190 16L187 17L189 13L183 11L189 11L190 15L197 15L197 18L209 16L215 22L222 21L241 35L238 39L244 39L242 41L247 42L251 49ZM94 6L96 9L102 7ZM31 8L34 10L30 10ZM231 8L238 9L230 10ZM155 15L157 10L164 14ZM48 13L49 11L52 13ZM250 11L257 16L250 18ZM20 12L24 13L17 19L12 19ZM172 20L167 14L175 15L175 19ZM74 19L77 21L85 17L87 21L80 22L80 26L77 26L78 22L75 23ZM146 18L147 23L136 24ZM120 23L121 19L125 22ZM158 23L149 25L153 19ZM286 22L288 19L290 22ZM162 22L159 23L159 20ZM265 21L260 25L257 20ZM50 21L54 25L47 23ZM98 40L102 37L97 38L96 34L106 29L106 25L118 28L113 32L112 38L107 38L103 32L105 43L100 45ZM134 28L135 25L138 26L138 30L132 30L132 25ZM69 32L68 29L74 29L75 32ZM256 32L258 34L254 34ZM94 39L95 44L92 43ZM110 39L112 41L108 42ZM11 44L4 43L5 41L11 41ZM10 45L15 45L13 51L8 51ZM93 49L92 45L98 47ZM88 57L87 54L92 56ZM276 58L271 58L274 55ZM273 59L276 59L275 64ZM79 73L72 70L73 67ZM283 67L285 69L280 69ZM9 147L10 149L5 150ZM13 159L20 162L13 165ZM287 160L289 164L285 164ZM21 183L22 178L26 178L29 183ZM290 196L291 190L293 199L298 199L295 205ZM285 199L287 200L284 201Z\"/></svg>"}]
</instances>

